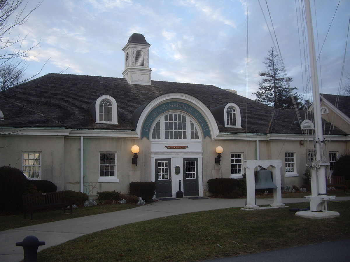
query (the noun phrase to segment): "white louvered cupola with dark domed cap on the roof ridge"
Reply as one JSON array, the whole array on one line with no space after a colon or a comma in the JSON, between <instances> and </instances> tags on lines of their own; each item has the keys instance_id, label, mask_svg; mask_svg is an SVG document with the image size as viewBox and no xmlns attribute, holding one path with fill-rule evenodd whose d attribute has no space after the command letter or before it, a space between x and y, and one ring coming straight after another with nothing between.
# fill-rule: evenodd
<instances>
[{"instance_id":1,"label":"white louvered cupola with dark domed cap on the roof ridge","mask_svg":"<svg viewBox=\"0 0 350 262\"><path fill-rule=\"evenodd\" d=\"M144 35L134 33L122 49L125 55L123 77L130 84L151 85L151 68L149 68L147 43Z\"/></svg>"}]
</instances>

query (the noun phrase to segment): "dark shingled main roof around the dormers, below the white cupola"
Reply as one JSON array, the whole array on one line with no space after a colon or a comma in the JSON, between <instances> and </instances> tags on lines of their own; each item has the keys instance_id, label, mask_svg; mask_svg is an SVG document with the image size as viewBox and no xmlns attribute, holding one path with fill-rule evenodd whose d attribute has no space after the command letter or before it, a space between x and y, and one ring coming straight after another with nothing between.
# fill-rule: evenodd
<instances>
[{"instance_id":1,"label":"dark shingled main roof around the dormers, below the white cupola","mask_svg":"<svg viewBox=\"0 0 350 262\"><path fill-rule=\"evenodd\" d=\"M67 128L83 130L135 130L132 116L140 106L168 93L196 97L208 109L233 102L241 111L242 128L225 128L225 133L296 133L295 111L275 110L265 104L212 85L152 81L151 85L129 84L124 78L54 74L28 81L0 92L1 126ZM102 95L118 105L118 124L96 124L91 105ZM292 128L291 128L292 125ZM337 134L344 134L340 130Z\"/></svg>"}]
</instances>

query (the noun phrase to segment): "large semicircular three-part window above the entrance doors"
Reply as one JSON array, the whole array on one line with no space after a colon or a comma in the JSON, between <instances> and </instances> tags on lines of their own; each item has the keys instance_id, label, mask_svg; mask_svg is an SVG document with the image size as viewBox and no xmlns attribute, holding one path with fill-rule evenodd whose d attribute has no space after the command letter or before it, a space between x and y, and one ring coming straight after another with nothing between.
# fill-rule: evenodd
<instances>
[{"instance_id":1,"label":"large semicircular three-part window above the entrance doors","mask_svg":"<svg viewBox=\"0 0 350 262\"><path fill-rule=\"evenodd\" d=\"M153 126L152 139L199 140L197 124L186 115L172 112L161 116Z\"/></svg>"}]
</instances>

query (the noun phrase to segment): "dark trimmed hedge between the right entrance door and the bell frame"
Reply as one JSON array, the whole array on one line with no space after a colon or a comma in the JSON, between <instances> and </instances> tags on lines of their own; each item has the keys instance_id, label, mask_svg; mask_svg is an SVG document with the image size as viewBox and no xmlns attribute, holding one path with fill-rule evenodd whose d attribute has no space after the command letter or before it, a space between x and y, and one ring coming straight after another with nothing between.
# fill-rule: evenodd
<instances>
[{"instance_id":1,"label":"dark trimmed hedge between the right entrance door and the bell frame","mask_svg":"<svg viewBox=\"0 0 350 262\"><path fill-rule=\"evenodd\" d=\"M238 198L246 195L246 179L215 178L208 180L208 190L223 197Z\"/></svg>"}]
</instances>

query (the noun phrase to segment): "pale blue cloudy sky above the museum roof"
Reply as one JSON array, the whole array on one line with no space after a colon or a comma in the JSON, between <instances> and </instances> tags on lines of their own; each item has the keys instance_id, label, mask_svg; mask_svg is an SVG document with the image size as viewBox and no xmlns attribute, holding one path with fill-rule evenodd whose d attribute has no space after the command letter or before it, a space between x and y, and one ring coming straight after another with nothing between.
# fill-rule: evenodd
<instances>
[{"instance_id":1,"label":"pale blue cloudy sky above the museum roof","mask_svg":"<svg viewBox=\"0 0 350 262\"><path fill-rule=\"evenodd\" d=\"M26 10L37 2L30 0ZM215 85L255 99L258 73L274 45L269 15L292 87L306 92L301 7L298 0L44 0L13 32L28 34L24 47L40 41L27 61L27 77L48 59L38 76L66 69L68 74L122 77L121 49L137 32L152 44L152 80ZM342 70L344 76L350 73L349 50L342 69L350 1L311 0L311 9L317 54L323 46L320 92L337 94Z\"/></svg>"}]
</instances>

